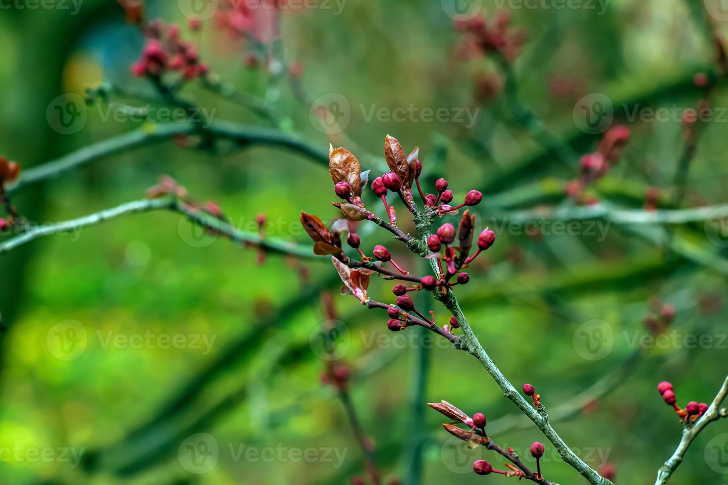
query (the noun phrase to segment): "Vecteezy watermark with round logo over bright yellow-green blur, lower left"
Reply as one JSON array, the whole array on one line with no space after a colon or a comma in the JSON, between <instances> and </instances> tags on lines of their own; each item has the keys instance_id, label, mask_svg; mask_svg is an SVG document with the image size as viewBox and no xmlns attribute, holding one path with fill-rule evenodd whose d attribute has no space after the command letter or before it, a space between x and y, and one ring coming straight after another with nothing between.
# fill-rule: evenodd
<instances>
[{"instance_id":1,"label":"Vecteezy watermark with round logo over bright yellow-green blur, lower left","mask_svg":"<svg viewBox=\"0 0 728 485\"><path fill-rule=\"evenodd\" d=\"M210 354L217 339L217 334L158 334L151 330L132 334L96 330L92 336L102 349L188 349L199 350L204 356ZM48 351L62 361L74 361L83 356L89 343L86 326L77 320L60 321L46 334Z\"/></svg>"}]
</instances>

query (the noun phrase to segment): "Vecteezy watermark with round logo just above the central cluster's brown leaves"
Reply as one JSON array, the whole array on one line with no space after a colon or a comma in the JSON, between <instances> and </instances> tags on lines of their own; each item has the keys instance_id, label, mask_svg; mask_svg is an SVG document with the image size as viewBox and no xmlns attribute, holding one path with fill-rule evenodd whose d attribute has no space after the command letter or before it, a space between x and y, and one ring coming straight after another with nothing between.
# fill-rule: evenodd
<instances>
[{"instance_id":1,"label":"Vecteezy watermark with round logo just above the central cluster's brown leaves","mask_svg":"<svg viewBox=\"0 0 728 485\"><path fill-rule=\"evenodd\" d=\"M344 132L356 113L362 121L371 123L453 123L462 124L466 129L472 129L478 121L481 108L470 106L438 107L417 106L410 103L408 106L389 108L378 103L360 103L352 110L352 105L346 96L333 92L322 95L314 100L309 109L309 118L313 126L326 135L338 135Z\"/></svg>"}]
</instances>

